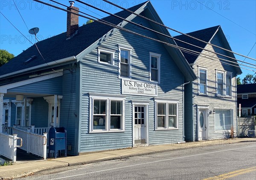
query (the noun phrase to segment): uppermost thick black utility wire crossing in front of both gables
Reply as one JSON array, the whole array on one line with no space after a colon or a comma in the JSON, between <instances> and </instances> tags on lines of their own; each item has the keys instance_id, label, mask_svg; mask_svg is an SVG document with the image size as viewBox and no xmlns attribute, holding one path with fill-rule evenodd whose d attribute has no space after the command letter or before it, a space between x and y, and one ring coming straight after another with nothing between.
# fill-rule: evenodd
<instances>
[{"instance_id":1,"label":"uppermost thick black utility wire crossing in front of both gables","mask_svg":"<svg viewBox=\"0 0 256 180\"><path fill-rule=\"evenodd\" d=\"M172 30L172 31L178 32L178 33L180 33L180 34L182 34L182 35L186 35L186 36L188 36L189 38L193 38L193 39L198 40L198 41L201 41L201 42L203 42L203 43L205 43L205 44L209 44L209 45L218 47L218 48L220 48L220 49L223 49L223 50L225 50L225 51L232 52L232 53L234 53L234 54L236 54L236 55L240 55L240 56L243 56L243 57L245 57L245 58L249 58L249 59L252 59L252 60L256 61L256 59L254 59L254 58L247 57L247 56L242 55L242 54L239 54L239 53L237 53L237 52L233 52L233 51L231 51L231 50L229 50L229 49L225 49L225 48L223 48L223 47L221 47L221 46L217 46L217 45L211 44L211 43L209 43L209 42L207 42L207 41L203 41L203 40L201 40L201 39L195 38L195 37L193 37L193 36L191 36L191 35L188 35L188 34L185 34L185 33L183 33L183 32L180 32L180 31L178 31L178 30L176 30L176 29L170 28L170 27L168 27L168 26L166 26L166 25L164 25L164 24L161 24L161 23L158 23L158 22L156 22L156 21L154 21L154 20L151 20L151 19L149 19L148 17L144 17L144 16L142 16L142 15L139 15L139 14L137 14L137 13L135 13L135 12L130 11L129 9L125 9L125 8L123 8L122 6L119 6L119 5L117 5L117 4L115 4L115 3L112 3L112 2L110 2L110 1L108 1L108 0L103 0L103 1L105 1L106 3L109 3L109 4L113 5L113 6L116 6L116 7L120 8L120 9L123 9L123 10L125 10L125 11L127 11L127 12L130 12L130 13L132 13L132 14L134 14L134 15L137 15L137 16L139 16L139 17L142 17L143 19L149 20L149 21L151 21L152 23L156 23L156 24L158 24L158 25L160 25L160 26L163 26L163 27L165 27L165 28L167 28L167 29L170 29L170 30Z\"/></svg>"}]
</instances>

